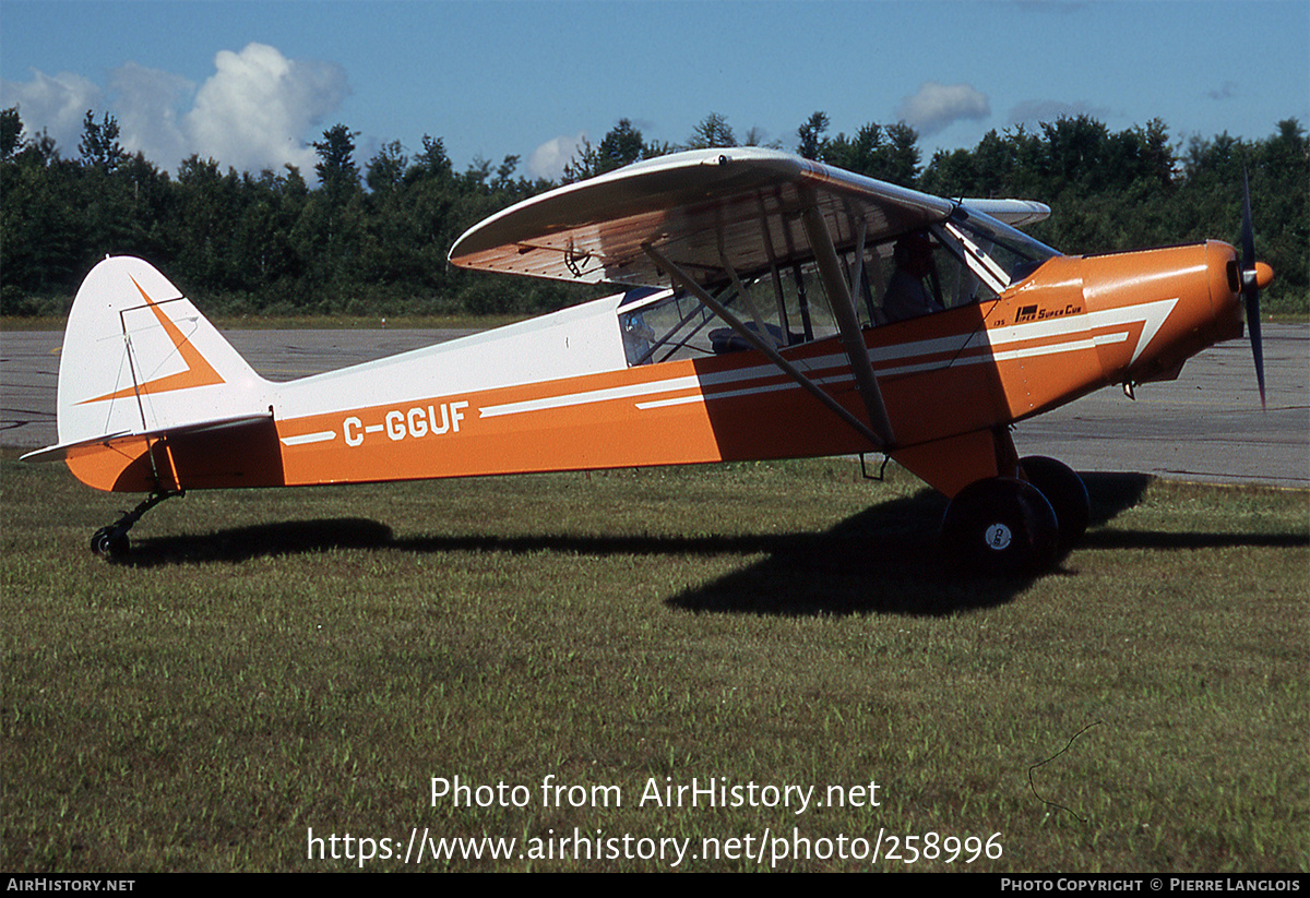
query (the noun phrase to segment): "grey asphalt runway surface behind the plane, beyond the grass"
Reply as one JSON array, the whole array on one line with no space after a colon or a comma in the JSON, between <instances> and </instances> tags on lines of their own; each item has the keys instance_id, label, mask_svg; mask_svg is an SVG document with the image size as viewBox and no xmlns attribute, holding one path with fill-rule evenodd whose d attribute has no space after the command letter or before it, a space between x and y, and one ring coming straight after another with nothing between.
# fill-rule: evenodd
<instances>
[{"instance_id":1,"label":"grey asphalt runway surface behind the plane, beyond the grass","mask_svg":"<svg viewBox=\"0 0 1310 898\"><path fill-rule=\"evenodd\" d=\"M286 381L415 350L469 331L228 331L262 376ZM0 445L56 442L58 331L0 332ZM1020 454L1079 471L1134 471L1209 483L1310 487L1310 325L1264 326L1268 410L1244 340L1212 347L1176 381L1136 401L1106 389L1015 425Z\"/></svg>"}]
</instances>

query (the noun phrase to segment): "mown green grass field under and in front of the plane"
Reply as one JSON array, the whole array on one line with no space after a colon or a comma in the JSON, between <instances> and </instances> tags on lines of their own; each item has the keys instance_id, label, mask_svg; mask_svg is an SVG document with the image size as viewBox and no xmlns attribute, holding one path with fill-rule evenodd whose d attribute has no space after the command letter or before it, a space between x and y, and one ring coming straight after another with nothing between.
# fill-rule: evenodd
<instances>
[{"instance_id":1,"label":"mown green grass field under and in front of the plane","mask_svg":"<svg viewBox=\"0 0 1310 898\"><path fill-rule=\"evenodd\" d=\"M3 869L1310 864L1305 492L1089 475L1024 581L844 459L191 494L111 564L136 497L0 463Z\"/></svg>"}]
</instances>

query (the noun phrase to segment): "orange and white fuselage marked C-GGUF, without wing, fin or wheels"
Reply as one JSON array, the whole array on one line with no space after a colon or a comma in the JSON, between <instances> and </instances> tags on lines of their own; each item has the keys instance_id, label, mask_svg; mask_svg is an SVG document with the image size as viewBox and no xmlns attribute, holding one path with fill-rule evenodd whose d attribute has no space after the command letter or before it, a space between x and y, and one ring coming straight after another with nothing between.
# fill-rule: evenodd
<instances>
[{"instance_id":1,"label":"orange and white fuselage marked C-GGUF, without wing, fin or wheels","mask_svg":"<svg viewBox=\"0 0 1310 898\"><path fill-rule=\"evenodd\" d=\"M1112 384L1176 374L1238 336L1237 254L1218 243L1055 257L998 298L866 327L893 457L947 495L981 469L967 445ZM103 490L299 486L829 456L869 450L758 352L631 364L612 296L364 365L238 390L267 422L143 437L68 463ZM836 338L781 350L853 414ZM225 407L232 406L231 394ZM164 406L161 406L164 407ZM164 412L166 416L166 412ZM182 414L182 412L177 412ZM164 422L166 424L166 422ZM960 440L964 440L962 444ZM148 449L148 446L152 446ZM160 453L166 449L166 459ZM151 453L155 458L151 458ZM929 461L922 461L929 459ZM166 463L165 463L166 462Z\"/></svg>"}]
</instances>

